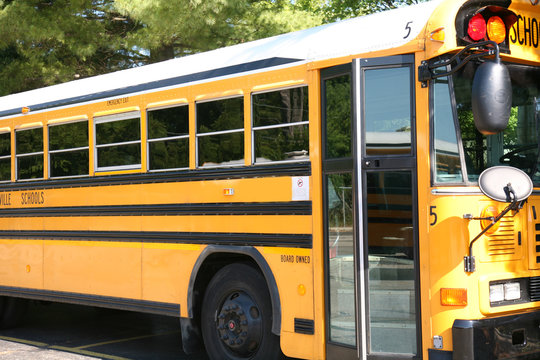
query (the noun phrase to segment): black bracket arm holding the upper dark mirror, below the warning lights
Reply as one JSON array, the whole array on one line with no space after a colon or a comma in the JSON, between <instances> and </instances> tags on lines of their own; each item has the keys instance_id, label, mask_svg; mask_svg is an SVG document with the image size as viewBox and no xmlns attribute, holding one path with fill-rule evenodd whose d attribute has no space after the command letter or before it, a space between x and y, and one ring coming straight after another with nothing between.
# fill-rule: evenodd
<instances>
[{"instance_id":1,"label":"black bracket arm holding the upper dark mirror, below the warning lights","mask_svg":"<svg viewBox=\"0 0 540 360\"><path fill-rule=\"evenodd\" d=\"M491 45L492 49L485 49L482 47ZM461 56L467 52L469 52L471 49L478 49L480 51L483 50L483 52L476 52L467 55L464 59L461 59ZM497 63L500 63L501 59L499 56L499 45L495 41L483 41L476 44L470 44L465 46L463 49L461 49L457 54L452 56L450 59L442 61L442 62L436 62L436 61L423 61L422 65L418 67L418 81L422 83L422 87L427 87L427 82L429 80L438 79L440 77L446 77L454 74L459 69L461 69L463 66L465 66L469 61L474 59L480 59L487 56L495 55L495 61ZM433 70L438 69L440 67L446 67L448 65L451 65L452 63L456 62L456 66L454 66L450 71L444 72L444 73L434 73Z\"/></svg>"}]
</instances>

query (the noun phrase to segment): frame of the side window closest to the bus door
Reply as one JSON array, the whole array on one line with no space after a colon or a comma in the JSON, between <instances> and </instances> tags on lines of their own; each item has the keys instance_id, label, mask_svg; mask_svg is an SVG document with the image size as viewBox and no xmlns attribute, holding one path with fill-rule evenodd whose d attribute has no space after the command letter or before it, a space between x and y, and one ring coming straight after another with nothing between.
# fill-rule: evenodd
<instances>
[{"instance_id":1,"label":"frame of the side window closest to the bus door","mask_svg":"<svg viewBox=\"0 0 540 360\"><path fill-rule=\"evenodd\" d=\"M298 121L298 122L294 122L294 123L282 123L282 124L277 124L277 125L264 125L264 126L255 126L255 123L254 123L254 113L255 111L253 111L253 104L254 104L254 101L253 101L253 96L255 95L260 95L260 94L268 94L268 93L272 93L272 92L278 92L278 91L283 91L283 90L294 90L294 89L299 89L299 88L306 88L307 92L306 92L306 96L308 98L308 108L307 108L307 112L308 112L308 120L307 121ZM256 91L256 92L252 92L250 94L250 116L251 116L251 119L250 119L250 122L251 122L251 164L252 165L269 165L269 164L284 164L284 163L292 163L292 162L305 162L305 161L309 161L310 160L310 151L309 151L309 147L311 145L311 139L310 139L310 136L309 136L309 85L308 84L299 84L299 85L295 85L295 86L289 86L289 87L284 87L284 88L273 88L273 89L267 89L267 90L263 90L263 91ZM269 160L267 162L257 162L257 154L256 154L256 151L255 151L255 132L256 131L259 131L259 130L269 130L269 129L280 129L280 128L284 128L284 127L293 127L293 126L304 126L304 125L307 125L308 126L308 153L306 154L306 158L305 159L291 159L291 160L276 160L276 161L272 161L272 160Z\"/></svg>"}]
</instances>

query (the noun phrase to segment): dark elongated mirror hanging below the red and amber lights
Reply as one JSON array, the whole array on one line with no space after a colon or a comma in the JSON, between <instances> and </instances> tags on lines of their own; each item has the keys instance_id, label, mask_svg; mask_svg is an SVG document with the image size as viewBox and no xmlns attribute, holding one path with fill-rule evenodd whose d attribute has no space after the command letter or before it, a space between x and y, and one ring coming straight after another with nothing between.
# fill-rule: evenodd
<instances>
[{"instance_id":1,"label":"dark elongated mirror hanging below the red and amber lights","mask_svg":"<svg viewBox=\"0 0 540 360\"><path fill-rule=\"evenodd\" d=\"M478 67L472 86L474 124L484 135L500 133L508 126L512 109L512 82L506 66L485 62Z\"/></svg>"}]
</instances>

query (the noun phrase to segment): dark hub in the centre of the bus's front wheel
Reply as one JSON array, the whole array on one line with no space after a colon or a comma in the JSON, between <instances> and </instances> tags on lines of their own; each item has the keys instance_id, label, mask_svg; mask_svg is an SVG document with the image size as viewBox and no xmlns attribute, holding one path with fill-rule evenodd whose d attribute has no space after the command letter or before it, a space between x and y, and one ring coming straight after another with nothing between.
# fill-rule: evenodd
<instances>
[{"instance_id":1,"label":"dark hub in the centre of the bus's front wheel","mask_svg":"<svg viewBox=\"0 0 540 360\"><path fill-rule=\"evenodd\" d=\"M261 342L262 319L257 304L244 292L229 295L218 314L216 328L226 348L235 354L254 353Z\"/></svg>"}]
</instances>

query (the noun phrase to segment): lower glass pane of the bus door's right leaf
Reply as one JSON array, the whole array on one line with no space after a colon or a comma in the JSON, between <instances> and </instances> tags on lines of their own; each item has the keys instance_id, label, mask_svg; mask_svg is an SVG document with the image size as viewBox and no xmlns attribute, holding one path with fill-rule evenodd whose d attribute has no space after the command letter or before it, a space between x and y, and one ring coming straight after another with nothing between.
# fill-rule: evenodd
<instances>
[{"instance_id":1,"label":"lower glass pane of the bus door's right leaf","mask_svg":"<svg viewBox=\"0 0 540 360\"><path fill-rule=\"evenodd\" d=\"M366 173L370 349L416 353L412 175Z\"/></svg>"}]
</instances>

